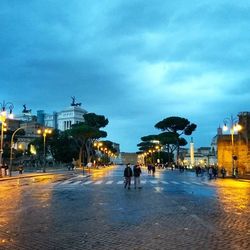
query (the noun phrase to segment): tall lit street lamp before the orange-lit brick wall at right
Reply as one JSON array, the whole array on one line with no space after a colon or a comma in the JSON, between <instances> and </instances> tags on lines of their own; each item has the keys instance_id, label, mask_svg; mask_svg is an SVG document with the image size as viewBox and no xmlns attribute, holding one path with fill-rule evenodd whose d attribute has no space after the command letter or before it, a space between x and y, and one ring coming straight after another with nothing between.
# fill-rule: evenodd
<instances>
[{"instance_id":1,"label":"tall lit street lamp before the orange-lit brick wall at right","mask_svg":"<svg viewBox=\"0 0 250 250\"><path fill-rule=\"evenodd\" d=\"M238 119L233 117L232 115L229 118L224 119L223 131L230 131L231 134L231 145L232 145L232 175L234 176L235 171L235 161L237 160L237 156L235 155L234 148L234 134L242 129L241 125L238 124ZM228 125L227 125L228 124Z\"/></svg>"}]
</instances>

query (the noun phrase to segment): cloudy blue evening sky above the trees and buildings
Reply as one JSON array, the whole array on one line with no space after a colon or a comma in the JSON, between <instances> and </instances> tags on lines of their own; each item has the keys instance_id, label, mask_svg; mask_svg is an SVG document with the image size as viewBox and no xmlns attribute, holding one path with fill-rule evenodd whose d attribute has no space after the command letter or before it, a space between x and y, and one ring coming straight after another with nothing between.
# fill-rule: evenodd
<instances>
[{"instance_id":1,"label":"cloudy blue evening sky above the trees and buildings","mask_svg":"<svg viewBox=\"0 0 250 250\"><path fill-rule=\"evenodd\" d=\"M225 117L250 110L248 1L2 0L0 26L0 101L36 114L76 96L122 151L168 116L209 146Z\"/></svg>"}]
</instances>

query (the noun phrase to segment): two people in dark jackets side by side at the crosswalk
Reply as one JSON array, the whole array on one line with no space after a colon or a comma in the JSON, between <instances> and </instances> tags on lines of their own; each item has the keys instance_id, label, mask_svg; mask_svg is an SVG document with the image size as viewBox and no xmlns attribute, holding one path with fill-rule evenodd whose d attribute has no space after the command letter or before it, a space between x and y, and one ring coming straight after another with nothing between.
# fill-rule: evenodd
<instances>
[{"instance_id":1,"label":"two people in dark jackets side by side at the crosswalk","mask_svg":"<svg viewBox=\"0 0 250 250\"><path fill-rule=\"evenodd\" d=\"M141 167L139 164L134 165L133 170L130 167L130 164L126 165L126 168L124 169L124 188L130 189L131 186L131 178L134 176L134 188L141 189L141 181L140 181L140 175L141 175Z\"/></svg>"}]
</instances>

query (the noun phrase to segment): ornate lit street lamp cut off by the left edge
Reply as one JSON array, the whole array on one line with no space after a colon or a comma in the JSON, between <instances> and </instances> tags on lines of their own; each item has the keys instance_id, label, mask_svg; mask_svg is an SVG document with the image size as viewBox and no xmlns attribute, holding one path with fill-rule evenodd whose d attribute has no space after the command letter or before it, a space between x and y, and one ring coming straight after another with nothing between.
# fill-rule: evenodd
<instances>
[{"instance_id":1,"label":"ornate lit street lamp cut off by the left edge","mask_svg":"<svg viewBox=\"0 0 250 250\"><path fill-rule=\"evenodd\" d=\"M4 131L7 131L7 119L13 119L13 108L14 105L11 102L0 103L1 113L0 113L0 122L1 122L1 141L0 141L0 167L3 166L3 139ZM9 111L8 111L9 110Z\"/></svg>"}]
</instances>

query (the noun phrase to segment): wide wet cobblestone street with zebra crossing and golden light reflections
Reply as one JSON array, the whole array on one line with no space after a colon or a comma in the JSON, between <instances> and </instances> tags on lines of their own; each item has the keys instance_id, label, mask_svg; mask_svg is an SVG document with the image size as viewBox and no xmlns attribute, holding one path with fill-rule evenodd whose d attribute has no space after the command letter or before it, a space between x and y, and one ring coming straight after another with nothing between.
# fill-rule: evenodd
<instances>
[{"instance_id":1,"label":"wide wet cobblestone street with zebra crossing and golden light reflections","mask_svg":"<svg viewBox=\"0 0 250 250\"><path fill-rule=\"evenodd\" d=\"M250 182L124 166L0 181L0 249L250 249Z\"/></svg>"}]
</instances>

